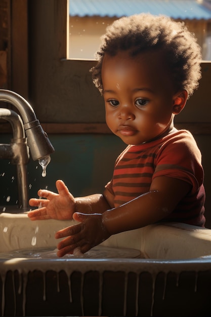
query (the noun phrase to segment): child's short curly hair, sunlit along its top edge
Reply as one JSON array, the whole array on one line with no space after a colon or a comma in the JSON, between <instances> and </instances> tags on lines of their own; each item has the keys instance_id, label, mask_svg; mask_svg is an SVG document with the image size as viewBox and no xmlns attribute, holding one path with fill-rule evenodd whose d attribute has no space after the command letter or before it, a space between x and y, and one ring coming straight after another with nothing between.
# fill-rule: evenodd
<instances>
[{"instance_id":1,"label":"child's short curly hair, sunlit along its top edge","mask_svg":"<svg viewBox=\"0 0 211 317\"><path fill-rule=\"evenodd\" d=\"M115 56L119 51L128 50L131 57L150 50L162 50L176 89L186 89L188 97L199 85L201 48L184 22L176 22L163 15L136 14L114 21L101 39L102 44L95 54L98 62L90 70L101 94L104 55Z\"/></svg>"}]
</instances>

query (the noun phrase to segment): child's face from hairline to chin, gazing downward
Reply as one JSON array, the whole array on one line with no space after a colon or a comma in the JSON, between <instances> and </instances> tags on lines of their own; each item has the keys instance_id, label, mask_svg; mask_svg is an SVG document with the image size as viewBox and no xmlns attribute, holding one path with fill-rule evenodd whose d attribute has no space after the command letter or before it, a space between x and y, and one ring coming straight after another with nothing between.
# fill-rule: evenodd
<instances>
[{"instance_id":1,"label":"child's face from hairline to chin, gazing downward","mask_svg":"<svg viewBox=\"0 0 211 317\"><path fill-rule=\"evenodd\" d=\"M162 54L106 54L102 83L106 123L126 144L151 141L172 127L176 94Z\"/></svg>"}]
</instances>

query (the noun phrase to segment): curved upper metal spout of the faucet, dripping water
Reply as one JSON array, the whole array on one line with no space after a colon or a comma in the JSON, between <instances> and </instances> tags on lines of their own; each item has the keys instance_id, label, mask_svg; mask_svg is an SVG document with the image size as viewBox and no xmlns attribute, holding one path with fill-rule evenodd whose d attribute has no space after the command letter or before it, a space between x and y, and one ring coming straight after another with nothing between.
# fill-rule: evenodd
<instances>
[{"instance_id":1,"label":"curved upper metal spout of the faucet, dripping water","mask_svg":"<svg viewBox=\"0 0 211 317\"><path fill-rule=\"evenodd\" d=\"M20 95L0 89L0 101L13 104L21 114L32 159L39 160L54 152L47 133L41 127L31 105Z\"/></svg>"}]
</instances>

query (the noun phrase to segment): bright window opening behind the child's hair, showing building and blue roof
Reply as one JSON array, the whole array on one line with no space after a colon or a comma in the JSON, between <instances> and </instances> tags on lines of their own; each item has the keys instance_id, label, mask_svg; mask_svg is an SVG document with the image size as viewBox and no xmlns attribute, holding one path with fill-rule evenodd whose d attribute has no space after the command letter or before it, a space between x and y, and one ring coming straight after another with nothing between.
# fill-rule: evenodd
<instances>
[{"instance_id":1,"label":"bright window opening behind the child's hair, showing building and blue roof","mask_svg":"<svg viewBox=\"0 0 211 317\"><path fill-rule=\"evenodd\" d=\"M196 0L160 1L157 4L155 1L117 0L112 8L111 1L69 0L69 58L94 59L94 53L100 46L100 36L105 33L106 27L122 15L137 12L171 13L175 20L184 21L198 39L203 60L211 60L211 4L205 7Z\"/></svg>"}]
</instances>

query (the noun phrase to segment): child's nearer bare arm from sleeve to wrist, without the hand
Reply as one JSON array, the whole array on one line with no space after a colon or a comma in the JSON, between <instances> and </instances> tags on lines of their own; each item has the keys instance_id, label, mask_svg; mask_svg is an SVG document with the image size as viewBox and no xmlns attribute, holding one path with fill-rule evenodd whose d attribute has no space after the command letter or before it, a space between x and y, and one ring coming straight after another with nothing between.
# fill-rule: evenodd
<instances>
[{"instance_id":1,"label":"child's nearer bare arm from sleeve to wrist, without the hand","mask_svg":"<svg viewBox=\"0 0 211 317\"><path fill-rule=\"evenodd\" d=\"M149 192L118 208L106 211L103 222L110 234L155 223L170 214L190 191L183 180L160 176L153 179Z\"/></svg>"}]
</instances>

